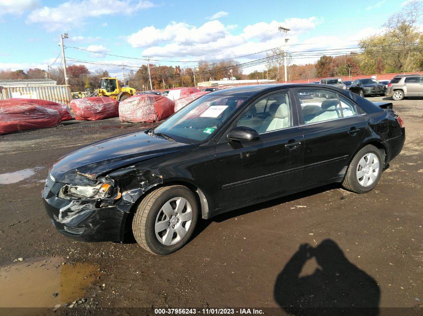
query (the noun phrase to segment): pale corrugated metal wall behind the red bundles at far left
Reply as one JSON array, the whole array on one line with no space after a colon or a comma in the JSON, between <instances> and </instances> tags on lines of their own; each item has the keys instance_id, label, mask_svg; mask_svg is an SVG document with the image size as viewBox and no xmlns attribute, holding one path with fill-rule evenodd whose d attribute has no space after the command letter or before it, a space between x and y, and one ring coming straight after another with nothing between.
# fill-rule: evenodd
<instances>
[{"instance_id":1,"label":"pale corrugated metal wall behind the red bundles at far left","mask_svg":"<svg viewBox=\"0 0 423 316\"><path fill-rule=\"evenodd\" d=\"M69 104L72 100L70 85L39 87L0 87L0 99L30 98Z\"/></svg>"}]
</instances>

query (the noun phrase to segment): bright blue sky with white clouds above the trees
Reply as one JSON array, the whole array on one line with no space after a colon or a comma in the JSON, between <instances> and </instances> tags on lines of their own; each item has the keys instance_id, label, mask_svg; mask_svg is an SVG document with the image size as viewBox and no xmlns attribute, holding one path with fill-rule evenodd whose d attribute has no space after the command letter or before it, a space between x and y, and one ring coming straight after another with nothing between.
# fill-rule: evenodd
<instances>
[{"instance_id":1,"label":"bright blue sky with white clouds above the trees","mask_svg":"<svg viewBox=\"0 0 423 316\"><path fill-rule=\"evenodd\" d=\"M183 67L227 58L245 63L275 47L291 52L292 63L305 64L322 52L356 50L358 40L382 32L406 2L0 0L0 69L60 66L65 32L67 65L120 77L122 64L136 71L147 56L153 64ZM290 29L286 43L278 26ZM243 72L263 69L246 64Z\"/></svg>"}]
</instances>

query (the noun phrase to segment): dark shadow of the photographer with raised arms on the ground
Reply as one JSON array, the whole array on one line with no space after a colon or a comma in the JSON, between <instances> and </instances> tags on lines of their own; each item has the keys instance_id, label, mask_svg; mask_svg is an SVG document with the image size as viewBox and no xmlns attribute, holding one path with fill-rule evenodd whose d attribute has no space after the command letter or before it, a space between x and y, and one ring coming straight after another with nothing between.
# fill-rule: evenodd
<instances>
[{"instance_id":1,"label":"dark shadow of the photographer with raised arms on the ground","mask_svg":"<svg viewBox=\"0 0 423 316\"><path fill-rule=\"evenodd\" d=\"M300 277L312 258L319 267L313 274ZM316 248L308 244L299 247L276 279L274 298L295 316L379 315L376 281L349 262L330 239Z\"/></svg>"}]
</instances>

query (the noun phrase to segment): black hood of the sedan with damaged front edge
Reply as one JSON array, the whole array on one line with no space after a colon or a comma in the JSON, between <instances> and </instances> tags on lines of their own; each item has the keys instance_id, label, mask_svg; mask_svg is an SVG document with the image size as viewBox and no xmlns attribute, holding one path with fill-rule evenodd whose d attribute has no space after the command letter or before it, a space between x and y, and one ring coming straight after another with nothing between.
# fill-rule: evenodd
<instances>
[{"instance_id":1,"label":"black hood of the sedan with damaged front edge","mask_svg":"<svg viewBox=\"0 0 423 316\"><path fill-rule=\"evenodd\" d=\"M57 182L75 179L77 173L97 177L111 170L153 157L197 146L149 136L144 131L109 138L60 158L51 175Z\"/></svg>"}]
</instances>

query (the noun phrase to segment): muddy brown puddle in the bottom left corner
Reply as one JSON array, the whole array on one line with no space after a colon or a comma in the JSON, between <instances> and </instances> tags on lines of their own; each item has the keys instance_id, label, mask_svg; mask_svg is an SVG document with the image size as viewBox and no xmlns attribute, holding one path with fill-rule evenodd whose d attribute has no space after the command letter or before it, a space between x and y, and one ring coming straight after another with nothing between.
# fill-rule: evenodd
<instances>
[{"instance_id":1,"label":"muddy brown puddle in the bottom left corner","mask_svg":"<svg viewBox=\"0 0 423 316\"><path fill-rule=\"evenodd\" d=\"M86 288L100 276L99 267L62 262L54 257L0 268L0 309L51 308L83 298Z\"/></svg>"}]
</instances>

